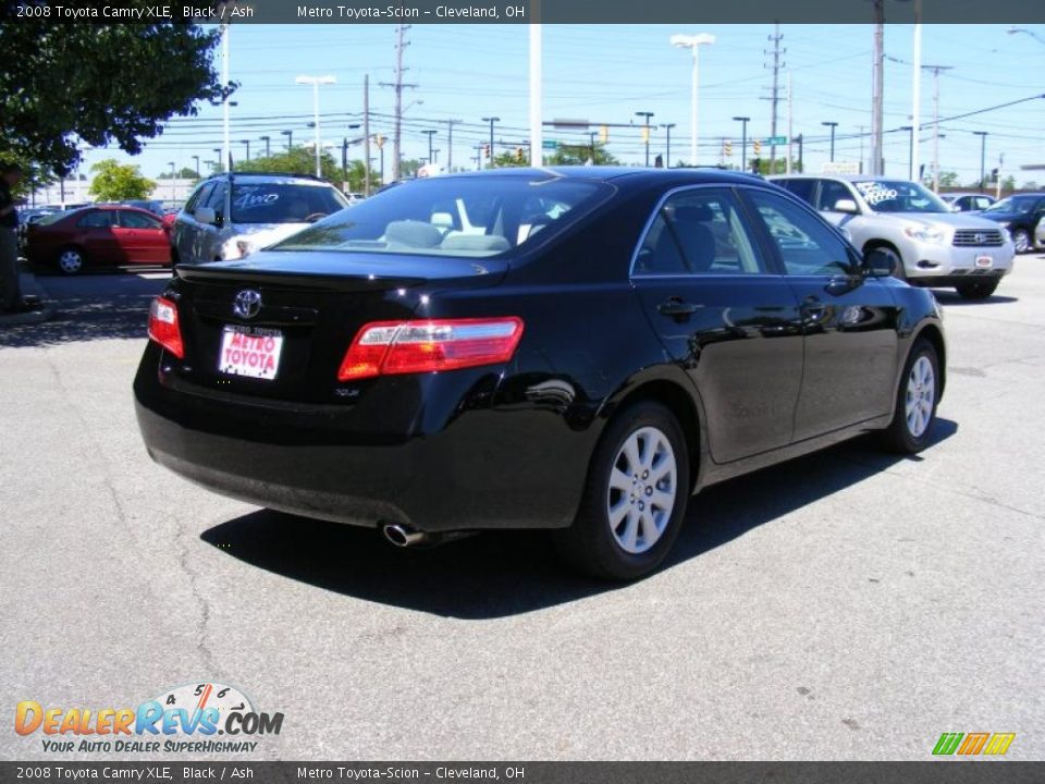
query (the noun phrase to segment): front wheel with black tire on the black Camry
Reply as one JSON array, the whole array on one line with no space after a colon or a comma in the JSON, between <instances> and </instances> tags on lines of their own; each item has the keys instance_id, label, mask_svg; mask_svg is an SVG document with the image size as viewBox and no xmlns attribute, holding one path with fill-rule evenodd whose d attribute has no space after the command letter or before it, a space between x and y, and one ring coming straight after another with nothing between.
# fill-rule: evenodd
<instances>
[{"instance_id":1,"label":"front wheel with black tire on the black Camry","mask_svg":"<svg viewBox=\"0 0 1045 784\"><path fill-rule=\"evenodd\" d=\"M890 452L915 454L932 440L939 402L939 358L927 340L919 338L903 365L893 421L883 432Z\"/></svg>"}]
</instances>

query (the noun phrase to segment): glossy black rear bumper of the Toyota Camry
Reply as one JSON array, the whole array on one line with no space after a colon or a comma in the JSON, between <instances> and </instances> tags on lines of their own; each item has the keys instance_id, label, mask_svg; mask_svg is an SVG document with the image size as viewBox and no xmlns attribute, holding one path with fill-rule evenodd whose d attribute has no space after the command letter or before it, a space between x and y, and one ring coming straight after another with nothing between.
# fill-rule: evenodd
<instances>
[{"instance_id":1,"label":"glossy black rear bumper of the Toyota Camry","mask_svg":"<svg viewBox=\"0 0 1045 784\"><path fill-rule=\"evenodd\" d=\"M438 430L353 432L351 407L243 405L172 390L150 345L135 380L149 455L223 495L360 526L558 528L580 503L598 427L548 411L457 408Z\"/></svg>"}]
</instances>

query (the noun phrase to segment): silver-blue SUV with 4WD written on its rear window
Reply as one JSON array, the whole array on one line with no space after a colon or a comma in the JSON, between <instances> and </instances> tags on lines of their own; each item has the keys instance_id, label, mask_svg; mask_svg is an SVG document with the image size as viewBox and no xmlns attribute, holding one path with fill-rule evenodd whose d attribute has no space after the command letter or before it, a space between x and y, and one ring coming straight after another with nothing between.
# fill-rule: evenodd
<instances>
[{"instance_id":1,"label":"silver-blue SUV with 4WD written on its rear window","mask_svg":"<svg viewBox=\"0 0 1045 784\"><path fill-rule=\"evenodd\" d=\"M196 187L174 219L173 260L243 258L347 206L340 191L315 177L218 174Z\"/></svg>"}]
</instances>

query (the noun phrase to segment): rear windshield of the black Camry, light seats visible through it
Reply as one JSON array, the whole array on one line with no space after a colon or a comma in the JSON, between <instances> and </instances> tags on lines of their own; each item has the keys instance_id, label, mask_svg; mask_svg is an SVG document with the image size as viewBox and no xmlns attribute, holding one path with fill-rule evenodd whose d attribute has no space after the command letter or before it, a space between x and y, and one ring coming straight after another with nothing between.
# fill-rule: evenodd
<instances>
[{"instance_id":1,"label":"rear windshield of the black Camry, light seats visible through it","mask_svg":"<svg viewBox=\"0 0 1045 784\"><path fill-rule=\"evenodd\" d=\"M604 183L548 174L415 180L270 249L496 256L557 233L610 192Z\"/></svg>"}]
</instances>

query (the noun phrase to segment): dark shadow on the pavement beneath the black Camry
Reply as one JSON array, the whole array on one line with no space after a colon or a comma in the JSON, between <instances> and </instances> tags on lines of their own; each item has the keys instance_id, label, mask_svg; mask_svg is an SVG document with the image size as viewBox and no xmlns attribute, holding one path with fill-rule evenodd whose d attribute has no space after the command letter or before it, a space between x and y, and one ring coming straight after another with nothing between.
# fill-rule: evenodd
<instances>
[{"instance_id":1,"label":"dark shadow on the pavement beneath the black Camry","mask_svg":"<svg viewBox=\"0 0 1045 784\"><path fill-rule=\"evenodd\" d=\"M934 443L957 430L956 422L938 419ZM869 439L858 439L711 487L691 501L665 568L905 460L922 458L883 454ZM403 550L373 529L261 510L214 526L200 539L318 588L447 617L503 617L626 587L570 574L556 561L544 531L490 531L438 548Z\"/></svg>"}]
</instances>

